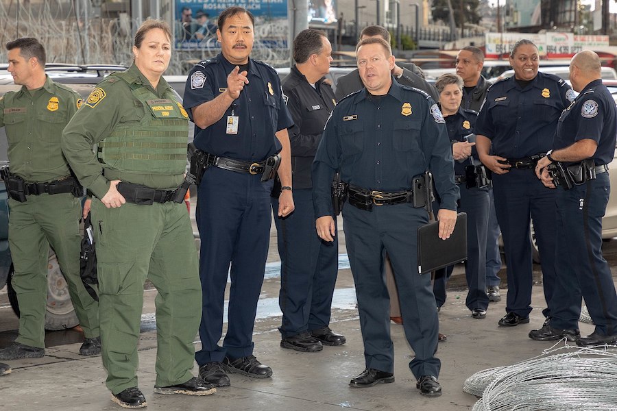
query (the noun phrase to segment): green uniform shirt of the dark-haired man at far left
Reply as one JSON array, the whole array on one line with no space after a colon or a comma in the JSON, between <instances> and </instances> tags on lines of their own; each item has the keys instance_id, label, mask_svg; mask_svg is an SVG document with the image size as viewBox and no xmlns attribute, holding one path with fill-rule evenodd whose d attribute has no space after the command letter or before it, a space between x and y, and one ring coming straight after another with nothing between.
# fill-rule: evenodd
<instances>
[{"instance_id":1,"label":"green uniform shirt of the dark-haired man at far left","mask_svg":"<svg viewBox=\"0 0 617 411\"><path fill-rule=\"evenodd\" d=\"M71 174L62 155L62 129L77 112L77 92L47 77L38 90L0 97L0 127L6 129L11 172L26 182L51 182Z\"/></svg>"}]
</instances>

